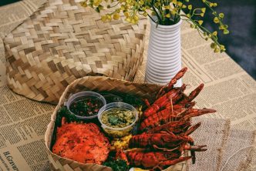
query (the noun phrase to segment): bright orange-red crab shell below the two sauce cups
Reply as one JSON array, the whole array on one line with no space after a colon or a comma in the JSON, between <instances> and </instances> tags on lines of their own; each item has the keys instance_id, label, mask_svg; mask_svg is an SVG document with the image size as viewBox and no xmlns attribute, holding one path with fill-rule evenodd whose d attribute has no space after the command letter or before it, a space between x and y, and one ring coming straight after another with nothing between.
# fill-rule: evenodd
<instances>
[{"instance_id":1,"label":"bright orange-red crab shell below the two sauce cups","mask_svg":"<svg viewBox=\"0 0 256 171\"><path fill-rule=\"evenodd\" d=\"M109 140L94 123L71 122L57 128L52 152L79 163L103 163L109 154Z\"/></svg>"}]
</instances>

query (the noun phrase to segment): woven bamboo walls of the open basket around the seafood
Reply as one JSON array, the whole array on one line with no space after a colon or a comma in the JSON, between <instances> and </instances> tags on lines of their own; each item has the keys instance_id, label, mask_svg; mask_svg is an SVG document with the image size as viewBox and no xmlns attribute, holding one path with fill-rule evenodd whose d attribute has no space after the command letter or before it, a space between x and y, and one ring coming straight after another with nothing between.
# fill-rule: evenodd
<instances>
[{"instance_id":1,"label":"woven bamboo walls of the open basket around the seafood","mask_svg":"<svg viewBox=\"0 0 256 171\"><path fill-rule=\"evenodd\" d=\"M130 93L142 98L152 99L156 92L158 92L160 86L153 84L139 84L128 81L122 81L119 79L111 79L103 76L86 76L82 79L77 79L69 85L65 92L63 92L59 104L54 110L51 122L45 132L45 145L48 149L49 162L52 170L107 170L106 166L100 166L96 164L82 164L72 161L70 159L64 159L50 151L50 146L52 142L52 133L55 126L56 114L64 102L69 98L69 96L76 92L81 91L95 91L95 92L116 92L116 93ZM181 171L186 169L185 163L179 163L175 166L171 166L168 170Z\"/></svg>"}]
</instances>

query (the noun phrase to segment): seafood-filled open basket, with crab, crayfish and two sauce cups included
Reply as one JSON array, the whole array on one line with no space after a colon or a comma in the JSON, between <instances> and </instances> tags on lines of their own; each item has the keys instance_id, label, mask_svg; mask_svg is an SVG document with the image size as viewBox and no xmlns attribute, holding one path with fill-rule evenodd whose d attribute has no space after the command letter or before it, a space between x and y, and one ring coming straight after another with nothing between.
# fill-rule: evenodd
<instances>
[{"instance_id":1,"label":"seafood-filled open basket, with crab, crayfish and two sauce cups included","mask_svg":"<svg viewBox=\"0 0 256 171\"><path fill-rule=\"evenodd\" d=\"M196 163L196 153L207 146L194 143L196 137L190 134L200 122L192 125L191 118L215 110L194 107L204 84L188 95L184 93L187 85L174 87L186 71L181 69L167 86L103 77L78 80L74 85L79 90L72 93L68 87L64 92L45 134L51 159L67 161L60 170L72 170L67 167L74 165L87 170L89 164L114 171L163 170L186 160ZM105 89L108 84L113 87ZM89 169L94 170L93 166Z\"/></svg>"}]
</instances>

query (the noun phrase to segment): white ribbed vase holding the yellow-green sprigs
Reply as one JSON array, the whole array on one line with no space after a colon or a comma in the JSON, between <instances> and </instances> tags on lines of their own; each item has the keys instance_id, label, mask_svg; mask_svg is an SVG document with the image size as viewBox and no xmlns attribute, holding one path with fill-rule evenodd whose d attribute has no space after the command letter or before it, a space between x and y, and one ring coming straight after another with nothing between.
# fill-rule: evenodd
<instances>
[{"instance_id":1,"label":"white ribbed vase holding the yellow-green sprigs","mask_svg":"<svg viewBox=\"0 0 256 171\"><path fill-rule=\"evenodd\" d=\"M180 24L157 25L150 19L145 82L167 84L181 69ZM175 86L181 86L181 79Z\"/></svg>"}]
</instances>

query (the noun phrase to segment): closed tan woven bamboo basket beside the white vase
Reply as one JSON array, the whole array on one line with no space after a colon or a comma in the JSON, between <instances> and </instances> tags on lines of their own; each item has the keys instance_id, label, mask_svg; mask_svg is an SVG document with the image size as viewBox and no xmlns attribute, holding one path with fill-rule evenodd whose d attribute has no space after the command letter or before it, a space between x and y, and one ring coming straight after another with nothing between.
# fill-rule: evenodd
<instances>
[{"instance_id":1,"label":"closed tan woven bamboo basket beside the white vase","mask_svg":"<svg viewBox=\"0 0 256 171\"><path fill-rule=\"evenodd\" d=\"M132 81L143 57L147 19L102 22L79 0L49 0L4 40L8 86L57 103L72 81L106 75Z\"/></svg>"}]
</instances>

